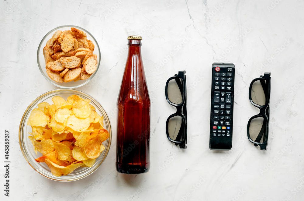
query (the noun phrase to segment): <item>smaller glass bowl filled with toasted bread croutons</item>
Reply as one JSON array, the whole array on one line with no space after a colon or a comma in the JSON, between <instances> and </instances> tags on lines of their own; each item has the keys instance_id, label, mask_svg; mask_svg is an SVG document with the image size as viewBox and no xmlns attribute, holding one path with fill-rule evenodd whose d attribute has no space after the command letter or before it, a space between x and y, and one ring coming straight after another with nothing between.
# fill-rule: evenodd
<instances>
[{"instance_id":1,"label":"smaller glass bowl filled with toasted bread croutons","mask_svg":"<svg viewBox=\"0 0 304 201\"><path fill-rule=\"evenodd\" d=\"M87 30L73 25L48 32L37 51L42 75L60 88L77 88L88 83L100 65L100 49Z\"/></svg>"}]
</instances>

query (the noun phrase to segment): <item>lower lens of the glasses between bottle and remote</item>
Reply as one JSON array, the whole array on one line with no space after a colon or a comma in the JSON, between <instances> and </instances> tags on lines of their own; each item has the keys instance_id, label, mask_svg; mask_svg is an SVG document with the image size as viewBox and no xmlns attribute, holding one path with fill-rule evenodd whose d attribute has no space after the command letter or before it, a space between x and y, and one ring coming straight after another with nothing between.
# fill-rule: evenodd
<instances>
[{"instance_id":1,"label":"lower lens of the glasses between bottle and remote","mask_svg":"<svg viewBox=\"0 0 304 201\"><path fill-rule=\"evenodd\" d=\"M168 134L175 141L181 142L184 140L184 121L181 116L174 116L169 119Z\"/></svg>"}]
</instances>

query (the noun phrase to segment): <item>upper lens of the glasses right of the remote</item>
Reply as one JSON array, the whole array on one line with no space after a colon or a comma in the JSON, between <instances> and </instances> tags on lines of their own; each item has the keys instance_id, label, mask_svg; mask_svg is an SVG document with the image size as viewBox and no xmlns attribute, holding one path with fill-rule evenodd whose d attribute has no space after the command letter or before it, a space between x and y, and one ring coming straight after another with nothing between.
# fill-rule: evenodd
<instances>
[{"instance_id":1,"label":"upper lens of the glasses right of the remote","mask_svg":"<svg viewBox=\"0 0 304 201\"><path fill-rule=\"evenodd\" d=\"M265 80L261 80L261 81L257 80L252 84L251 99L255 104L263 106L266 103L266 97L265 97L266 92L264 92L261 82L263 83L264 86L266 86Z\"/></svg>"}]
</instances>

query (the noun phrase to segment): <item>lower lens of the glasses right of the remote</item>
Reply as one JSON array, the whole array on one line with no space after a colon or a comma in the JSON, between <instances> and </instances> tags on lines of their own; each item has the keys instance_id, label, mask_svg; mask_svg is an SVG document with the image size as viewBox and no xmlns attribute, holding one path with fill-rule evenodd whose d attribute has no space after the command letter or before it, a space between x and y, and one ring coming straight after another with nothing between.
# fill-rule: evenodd
<instances>
[{"instance_id":1,"label":"lower lens of the glasses right of the remote","mask_svg":"<svg viewBox=\"0 0 304 201\"><path fill-rule=\"evenodd\" d=\"M263 117L252 119L249 126L250 138L258 143L264 142L264 134L266 131L266 120Z\"/></svg>"}]
</instances>

